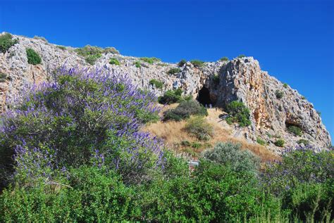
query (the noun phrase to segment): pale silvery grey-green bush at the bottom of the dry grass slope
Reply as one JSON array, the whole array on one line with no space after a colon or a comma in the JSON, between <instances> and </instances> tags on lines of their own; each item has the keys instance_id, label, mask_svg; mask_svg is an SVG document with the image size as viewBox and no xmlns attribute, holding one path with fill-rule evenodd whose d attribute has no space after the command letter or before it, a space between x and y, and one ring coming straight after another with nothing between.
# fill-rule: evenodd
<instances>
[{"instance_id":1,"label":"pale silvery grey-green bush at the bottom of the dry grass slope","mask_svg":"<svg viewBox=\"0 0 334 223\"><path fill-rule=\"evenodd\" d=\"M218 143L213 150L205 151L203 157L220 165L228 165L236 172L259 172L259 158L251 151L242 151L240 144Z\"/></svg>"}]
</instances>

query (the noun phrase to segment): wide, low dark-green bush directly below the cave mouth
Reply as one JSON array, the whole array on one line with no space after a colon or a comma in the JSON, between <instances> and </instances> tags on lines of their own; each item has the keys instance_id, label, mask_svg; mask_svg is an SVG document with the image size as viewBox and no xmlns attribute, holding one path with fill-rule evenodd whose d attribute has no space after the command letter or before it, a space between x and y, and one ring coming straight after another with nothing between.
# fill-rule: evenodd
<instances>
[{"instance_id":1,"label":"wide, low dark-green bush directly below the cave mouth","mask_svg":"<svg viewBox=\"0 0 334 223\"><path fill-rule=\"evenodd\" d=\"M190 115L208 115L208 111L198 101L181 101L178 107L163 113L163 120L180 121L189 118Z\"/></svg>"}]
</instances>

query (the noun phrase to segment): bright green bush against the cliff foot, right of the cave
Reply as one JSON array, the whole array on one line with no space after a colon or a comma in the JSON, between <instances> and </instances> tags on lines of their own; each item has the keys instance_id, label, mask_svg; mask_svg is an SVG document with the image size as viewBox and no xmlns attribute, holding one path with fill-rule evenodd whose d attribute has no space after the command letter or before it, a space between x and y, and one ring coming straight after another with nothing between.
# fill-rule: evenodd
<instances>
[{"instance_id":1,"label":"bright green bush against the cliff foot, right of the cave","mask_svg":"<svg viewBox=\"0 0 334 223\"><path fill-rule=\"evenodd\" d=\"M228 124L237 122L240 127L247 127L252 124L249 120L249 109L242 103L242 101L232 101L229 103L227 112L230 115L230 117L226 118Z\"/></svg>"}]
</instances>

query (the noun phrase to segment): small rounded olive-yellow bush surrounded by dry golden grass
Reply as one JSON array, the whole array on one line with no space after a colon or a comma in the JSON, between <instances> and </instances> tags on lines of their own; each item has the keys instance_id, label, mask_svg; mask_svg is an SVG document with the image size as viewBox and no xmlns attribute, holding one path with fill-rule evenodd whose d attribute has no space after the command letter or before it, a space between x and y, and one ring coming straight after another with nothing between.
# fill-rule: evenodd
<instances>
[{"instance_id":1,"label":"small rounded olive-yellow bush surrounded by dry golden grass","mask_svg":"<svg viewBox=\"0 0 334 223\"><path fill-rule=\"evenodd\" d=\"M210 125L204 117L194 116L187 120L185 130L199 140L208 141L214 135L214 127Z\"/></svg>"}]
</instances>

